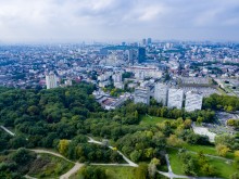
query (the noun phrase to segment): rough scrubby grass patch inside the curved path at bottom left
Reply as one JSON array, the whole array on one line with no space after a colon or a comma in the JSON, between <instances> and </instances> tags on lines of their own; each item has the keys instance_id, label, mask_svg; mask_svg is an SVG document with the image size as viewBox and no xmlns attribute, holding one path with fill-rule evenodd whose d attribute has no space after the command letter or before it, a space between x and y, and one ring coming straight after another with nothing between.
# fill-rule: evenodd
<instances>
[{"instance_id":1,"label":"rough scrubby grass patch inside the curved path at bottom left","mask_svg":"<svg viewBox=\"0 0 239 179\"><path fill-rule=\"evenodd\" d=\"M49 154L39 154L39 157L32 164L28 175L36 178L59 178L67 172L73 166L61 157Z\"/></svg>"}]
</instances>

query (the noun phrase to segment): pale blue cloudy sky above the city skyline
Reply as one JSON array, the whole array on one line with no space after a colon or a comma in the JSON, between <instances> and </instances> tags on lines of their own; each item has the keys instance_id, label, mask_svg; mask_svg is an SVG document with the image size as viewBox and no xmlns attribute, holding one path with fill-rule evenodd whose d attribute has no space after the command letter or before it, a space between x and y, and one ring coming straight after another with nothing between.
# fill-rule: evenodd
<instances>
[{"instance_id":1,"label":"pale blue cloudy sky above the city skyline","mask_svg":"<svg viewBox=\"0 0 239 179\"><path fill-rule=\"evenodd\" d=\"M239 0L0 0L0 42L239 41Z\"/></svg>"}]
</instances>

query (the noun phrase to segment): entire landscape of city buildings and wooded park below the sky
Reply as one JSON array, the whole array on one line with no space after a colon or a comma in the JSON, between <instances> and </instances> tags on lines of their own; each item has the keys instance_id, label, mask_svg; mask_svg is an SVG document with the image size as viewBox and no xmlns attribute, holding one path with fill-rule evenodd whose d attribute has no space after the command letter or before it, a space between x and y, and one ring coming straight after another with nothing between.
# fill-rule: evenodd
<instances>
[{"instance_id":1,"label":"entire landscape of city buildings and wooded park below the sky","mask_svg":"<svg viewBox=\"0 0 239 179\"><path fill-rule=\"evenodd\" d=\"M0 178L239 179L239 43L0 44Z\"/></svg>"}]
</instances>

